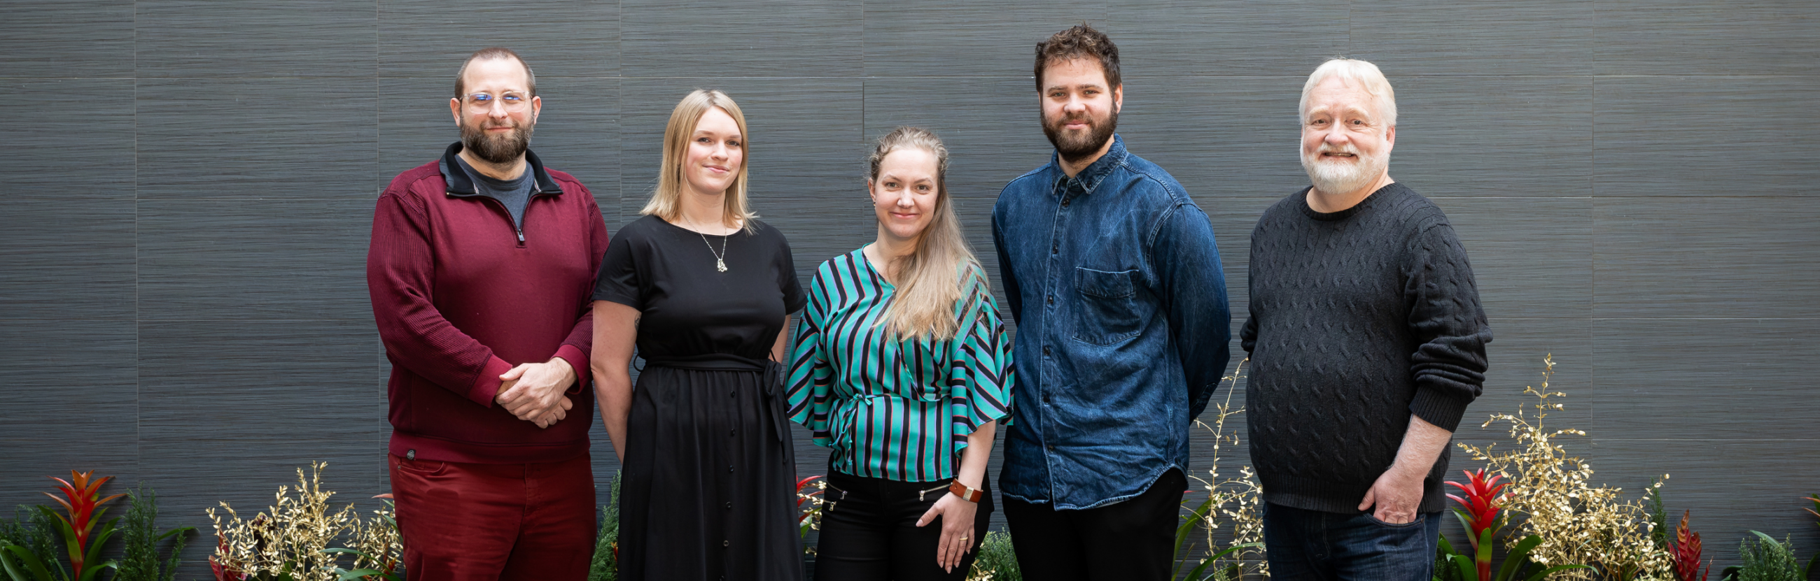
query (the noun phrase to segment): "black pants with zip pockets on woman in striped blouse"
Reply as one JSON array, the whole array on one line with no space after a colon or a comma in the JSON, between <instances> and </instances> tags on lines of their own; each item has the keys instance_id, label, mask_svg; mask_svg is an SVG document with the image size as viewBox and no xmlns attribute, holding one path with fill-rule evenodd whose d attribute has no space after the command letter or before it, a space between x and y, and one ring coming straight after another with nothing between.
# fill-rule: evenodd
<instances>
[{"instance_id":1,"label":"black pants with zip pockets on woman in striped blouse","mask_svg":"<svg viewBox=\"0 0 1820 581\"><path fill-rule=\"evenodd\" d=\"M935 565L941 543L941 517L917 527L915 521L948 496L948 483L901 483L883 478L850 476L828 470L826 505L821 512L821 543L815 545L815 581L963 581L974 566L979 541L992 516L992 483L983 479L986 496L974 510L974 552L961 557L954 572ZM939 488L939 490L930 490ZM925 492L928 490L928 492ZM921 497L917 497L921 494ZM1039 579L1039 577L1030 577Z\"/></svg>"}]
</instances>

